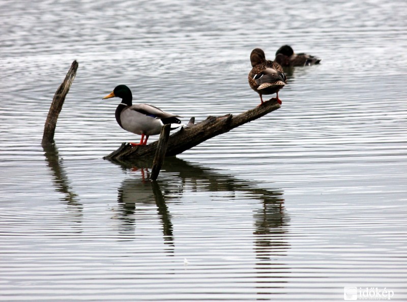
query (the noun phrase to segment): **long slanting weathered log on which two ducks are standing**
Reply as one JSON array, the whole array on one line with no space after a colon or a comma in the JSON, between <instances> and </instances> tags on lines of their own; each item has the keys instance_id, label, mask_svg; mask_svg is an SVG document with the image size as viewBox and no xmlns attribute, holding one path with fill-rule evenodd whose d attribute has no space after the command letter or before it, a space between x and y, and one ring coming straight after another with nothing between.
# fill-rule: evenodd
<instances>
[{"instance_id":1,"label":"long slanting weathered log on which two ducks are standing","mask_svg":"<svg viewBox=\"0 0 407 302\"><path fill-rule=\"evenodd\" d=\"M175 156L196 145L213 138L216 135L226 133L233 128L258 119L276 109L280 104L272 98L262 105L256 106L242 114L233 116L227 114L221 117L209 116L197 124L189 123L176 133L169 136L168 147L165 156ZM158 141L146 146L131 146L123 143L118 150L113 151L104 159L113 161L131 161L144 157L153 157L157 149Z\"/></svg>"}]
</instances>

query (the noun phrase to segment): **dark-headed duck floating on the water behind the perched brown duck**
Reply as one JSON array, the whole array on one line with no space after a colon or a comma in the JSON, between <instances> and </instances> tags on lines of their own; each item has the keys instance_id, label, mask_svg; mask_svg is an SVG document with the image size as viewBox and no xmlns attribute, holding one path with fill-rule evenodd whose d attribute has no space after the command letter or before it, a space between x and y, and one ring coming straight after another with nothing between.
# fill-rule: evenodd
<instances>
[{"instance_id":1,"label":"dark-headed duck floating on the water behind the perched brown duck","mask_svg":"<svg viewBox=\"0 0 407 302\"><path fill-rule=\"evenodd\" d=\"M306 53L294 53L291 46L283 45L276 51L276 58L274 61L282 67L292 67L319 64L321 59Z\"/></svg>"}]
</instances>

